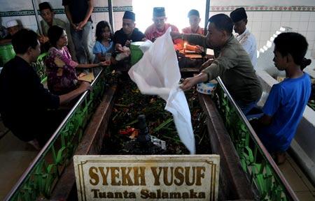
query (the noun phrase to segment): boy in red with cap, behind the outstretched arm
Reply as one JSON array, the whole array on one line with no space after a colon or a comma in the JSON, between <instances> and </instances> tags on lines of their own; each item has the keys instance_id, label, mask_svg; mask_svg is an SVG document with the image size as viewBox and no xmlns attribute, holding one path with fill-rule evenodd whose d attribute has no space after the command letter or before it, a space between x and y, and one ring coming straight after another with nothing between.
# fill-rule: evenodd
<instances>
[{"instance_id":1,"label":"boy in red with cap, behind the outstretched arm","mask_svg":"<svg viewBox=\"0 0 315 201\"><path fill-rule=\"evenodd\" d=\"M204 29L199 27L199 23L200 23L200 15L198 10L190 10L188 12L188 18L189 18L189 24L190 27L186 27L182 30L183 34L200 34L200 35L204 35ZM186 50L193 50L195 52L202 52L203 51L203 47L200 47L199 45L190 45L190 44L186 44L185 45L185 49Z\"/></svg>"}]
</instances>

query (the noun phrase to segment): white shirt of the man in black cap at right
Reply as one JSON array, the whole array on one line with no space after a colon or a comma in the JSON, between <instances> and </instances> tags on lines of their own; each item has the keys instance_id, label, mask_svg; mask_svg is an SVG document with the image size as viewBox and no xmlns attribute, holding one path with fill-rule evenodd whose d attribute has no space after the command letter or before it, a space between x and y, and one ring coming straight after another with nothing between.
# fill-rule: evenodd
<instances>
[{"instance_id":1,"label":"white shirt of the man in black cap at right","mask_svg":"<svg viewBox=\"0 0 315 201\"><path fill-rule=\"evenodd\" d=\"M255 68L257 65L257 45L255 36L246 29L243 34L237 36L237 40L248 53L249 58L251 58L251 64L253 64L253 67Z\"/></svg>"}]
</instances>

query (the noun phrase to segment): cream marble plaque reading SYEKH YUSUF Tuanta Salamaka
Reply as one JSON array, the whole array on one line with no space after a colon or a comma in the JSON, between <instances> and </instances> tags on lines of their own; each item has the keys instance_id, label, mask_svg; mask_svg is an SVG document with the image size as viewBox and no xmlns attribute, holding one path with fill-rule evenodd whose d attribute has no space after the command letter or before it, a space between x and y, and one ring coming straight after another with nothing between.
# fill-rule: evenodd
<instances>
[{"instance_id":1,"label":"cream marble plaque reading SYEKH YUSUF Tuanta Salamaka","mask_svg":"<svg viewBox=\"0 0 315 201\"><path fill-rule=\"evenodd\" d=\"M78 200L217 200L218 155L73 156Z\"/></svg>"}]
</instances>

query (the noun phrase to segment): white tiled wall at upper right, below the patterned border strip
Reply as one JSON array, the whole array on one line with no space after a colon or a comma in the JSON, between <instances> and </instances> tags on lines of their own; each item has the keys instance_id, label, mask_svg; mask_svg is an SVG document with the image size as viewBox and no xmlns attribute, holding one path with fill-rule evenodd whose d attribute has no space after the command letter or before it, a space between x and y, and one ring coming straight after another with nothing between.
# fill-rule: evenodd
<instances>
[{"instance_id":1,"label":"white tiled wall at upper right, below the patterned border strip","mask_svg":"<svg viewBox=\"0 0 315 201\"><path fill-rule=\"evenodd\" d=\"M218 13L210 12L209 16ZM315 12L298 11L246 11L248 16L247 28L257 40L258 49L267 43L267 40L279 30L280 27L291 27L307 38L311 57L315 58Z\"/></svg>"}]
</instances>

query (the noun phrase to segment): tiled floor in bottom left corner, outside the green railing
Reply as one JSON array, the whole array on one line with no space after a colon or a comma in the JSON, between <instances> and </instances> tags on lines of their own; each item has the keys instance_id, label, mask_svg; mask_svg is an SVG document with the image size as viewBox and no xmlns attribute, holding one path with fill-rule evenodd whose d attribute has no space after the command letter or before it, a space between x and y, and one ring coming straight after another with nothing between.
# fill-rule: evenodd
<instances>
[{"instance_id":1,"label":"tiled floor in bottom left corner, outside the green railing","mask_svg":"<svg viewBox=\"0 0 315 201\"><path fill-rule=\"evenodd\" d=\"M3 200L20 176L33 161L38 151L15 137L0 121L0 200Z\"/></svg>"}]
</instances>

